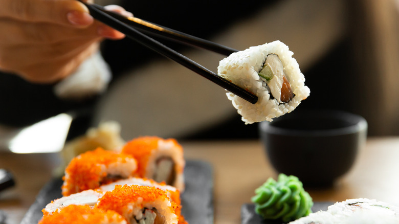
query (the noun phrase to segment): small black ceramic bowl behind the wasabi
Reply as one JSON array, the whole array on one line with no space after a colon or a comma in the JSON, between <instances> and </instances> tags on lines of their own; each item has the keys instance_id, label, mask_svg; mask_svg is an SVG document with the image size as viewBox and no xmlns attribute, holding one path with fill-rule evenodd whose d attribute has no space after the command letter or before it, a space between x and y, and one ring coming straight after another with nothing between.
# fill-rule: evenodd
<instances>
[{"instance_id":1,"label":"small black ceramic bowl behind the wasabi","mask_svg":"<svg viewBox=\"0 0 399 224\"><path fill-rule=\"evenodd\" d=\"M308 187L330 186L353 165L367 122L343 111L293 111L259 124L265 152L277 172Z\"/></svg>"}]
</instances>

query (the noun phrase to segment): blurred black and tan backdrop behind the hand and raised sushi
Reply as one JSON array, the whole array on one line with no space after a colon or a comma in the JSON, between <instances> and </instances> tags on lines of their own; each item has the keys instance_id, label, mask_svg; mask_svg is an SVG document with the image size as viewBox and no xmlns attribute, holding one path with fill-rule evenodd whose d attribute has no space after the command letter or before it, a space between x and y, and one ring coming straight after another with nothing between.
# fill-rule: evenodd
<instances>
[{"instance_id":1,"label":"blurred black and tan backdrop behind the hand and raised sushi","mask_svg":"<svg viewBox=\"0 0 399 224\"><path fill-rule=\"evenodd\" d=\"M296 110L346 110L366 118L370 136L399 134L399 1L96 3L119 4L139 18L238 50L280 40L311 89ZM215 72L225 57L162 42ZM216 84L130 39L106 40L101 50L114 78L104 94L83 101L61 100L53 85L1 74L0 124L24 126L89 107L90 114L74 121L70 138L104 121L120 123L125 140L258 138L257 124L245 125Z\"/></svg>"}]
</instances>

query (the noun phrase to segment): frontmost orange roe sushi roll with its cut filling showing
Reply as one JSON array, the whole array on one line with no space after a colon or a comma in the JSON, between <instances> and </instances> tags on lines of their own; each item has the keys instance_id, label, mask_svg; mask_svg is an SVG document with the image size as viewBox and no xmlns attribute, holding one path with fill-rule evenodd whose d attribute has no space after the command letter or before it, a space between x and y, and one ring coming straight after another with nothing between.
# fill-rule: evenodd
<instances>
[{"instance_id":1,"label":"frontmost orange roe sushi roll with its cut filling showing","mask_svg":"<svg viewBox=\"0 0 399 224\"><path fill-rule=\"evenodd\" d=\"M99 199L96 207L116 211L131 224L178 223L176 205L165 191L155 187L116 185Z\"/></svg>"}]
</instances>

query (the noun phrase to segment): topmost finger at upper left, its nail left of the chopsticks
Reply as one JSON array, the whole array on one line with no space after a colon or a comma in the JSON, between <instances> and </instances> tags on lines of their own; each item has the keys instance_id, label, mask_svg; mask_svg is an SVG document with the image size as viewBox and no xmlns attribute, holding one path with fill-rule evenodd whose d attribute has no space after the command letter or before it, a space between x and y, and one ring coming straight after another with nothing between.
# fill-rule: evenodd
<instances>
[{"instance_id":1,"label":"topmost finger at upper left, its nail left of the chopsticks","mask_svg":"<svg viewBox=\"0 0 399 224\"><path fill-rule=\"evenodd\" d=\"M93 23L88 9L76 0L2 0L0 17L86 27Z\"/></svg>"}]
</instances>

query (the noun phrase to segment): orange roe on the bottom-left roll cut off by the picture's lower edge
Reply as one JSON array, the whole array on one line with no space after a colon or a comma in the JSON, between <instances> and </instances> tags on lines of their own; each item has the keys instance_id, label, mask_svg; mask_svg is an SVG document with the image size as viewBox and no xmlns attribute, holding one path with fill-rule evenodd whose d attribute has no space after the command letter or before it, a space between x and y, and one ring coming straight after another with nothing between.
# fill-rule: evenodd
<instances>
[{"instance_id":1,"label":"orange roe on the bottom-left roll cut off by the picture's lower edge","mask_svg":"<svg viewBox=\"0 0 399 224\"><path fill-rule=\"evenodd\" d=\"M105 212L88 205L70 205L52 215L43 216L38 224L106 224L111 222L126 224L126 220L115 211L108 210Z\"/></svg>"}]
</instances>

